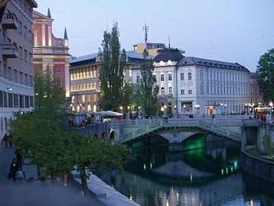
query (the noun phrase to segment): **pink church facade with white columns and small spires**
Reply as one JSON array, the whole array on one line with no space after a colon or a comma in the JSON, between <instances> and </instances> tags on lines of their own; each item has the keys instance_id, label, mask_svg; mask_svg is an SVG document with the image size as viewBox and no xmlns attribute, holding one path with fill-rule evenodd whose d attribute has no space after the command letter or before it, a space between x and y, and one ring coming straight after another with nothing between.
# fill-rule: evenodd
<instances>
[{"instance_id":1,"label":"pink church facade with white columns and small spires","mask_svg":"<svg viewBox=\"0 0 274 206\"><path fill-rule=\"evenodd\" d=\"M34 72L49 69L53 78L60 80L66 97L69 97L69 39L64 30L64 38L56 38L52 33L51 14L47 16L33 12L34 31Z\"/></svg>"}]
</instances>

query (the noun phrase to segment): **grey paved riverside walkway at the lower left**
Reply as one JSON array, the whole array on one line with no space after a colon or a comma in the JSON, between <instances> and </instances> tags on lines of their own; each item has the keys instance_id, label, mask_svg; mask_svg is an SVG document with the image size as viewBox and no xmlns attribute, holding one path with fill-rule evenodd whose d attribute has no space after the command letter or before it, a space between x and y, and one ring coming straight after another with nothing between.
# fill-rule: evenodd
<instances>
[{"instance_id":1,"label":"grey paved riverside walkway at the lower left","mask_svg":"<svg viewBox=\"0 0 274 206\"><path fill-rule=\"evenodd\" d=\"M10 163L14 157L14 148L4 148L0 144L0 205L103 205L96 197L84 198L78 188L65 187L60 183L53 184L51 181L27 183L24 181L14 184L11 179L7 178ZM30 167L23 165L26 176L35 175L35 168L33 165Z\"/></svg>"}]
</instances>

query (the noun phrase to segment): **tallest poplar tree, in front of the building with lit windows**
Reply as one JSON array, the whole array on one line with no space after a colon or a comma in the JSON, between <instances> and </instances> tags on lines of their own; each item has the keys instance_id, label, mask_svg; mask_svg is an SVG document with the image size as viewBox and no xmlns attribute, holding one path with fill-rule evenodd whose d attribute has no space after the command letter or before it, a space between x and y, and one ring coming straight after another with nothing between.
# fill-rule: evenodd
<instances>
[{"instance_id":1,"label":"tallest poplar tree, in front of the building with lit windows","mask_svg":"<svg viewBox=\"0 0 274 206\"><path fill-rule=\"evenodd\" d=\"M122 52L120 49L118 24L115 23L112 32L103 33L103 42L99 48L100 104L103 110L119 111L123 100L123 72L125 71L126 54L125 49Z\"/></svg>"}]
</instances>

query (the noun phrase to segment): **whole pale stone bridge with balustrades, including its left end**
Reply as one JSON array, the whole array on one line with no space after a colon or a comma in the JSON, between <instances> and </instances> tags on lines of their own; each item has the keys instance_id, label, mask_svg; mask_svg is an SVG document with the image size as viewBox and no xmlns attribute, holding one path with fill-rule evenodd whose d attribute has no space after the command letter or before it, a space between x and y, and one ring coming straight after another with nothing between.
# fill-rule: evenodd
<instances>
[{"instance_id":1,"label":"whole pale stone bridge with balustrades, including its left end","mask_svg":"<svg viewBox=\"0 0 274 206\"><path fill-rule=\"evenodd\" d=\"M214 133L227 139L241 141L240 130L233 127L242 126L242 117L219 117L215 119L206 118L178 118L178 119L136 119L136 120L112 120L109 122L98 122L92 125L77 128L80 132L95 135L99 139L113 139L127 143L136 141L144 136L157 133L161 129L173 128L197 128L205 130L206 133Z\"/></svg>"}]
</instances>

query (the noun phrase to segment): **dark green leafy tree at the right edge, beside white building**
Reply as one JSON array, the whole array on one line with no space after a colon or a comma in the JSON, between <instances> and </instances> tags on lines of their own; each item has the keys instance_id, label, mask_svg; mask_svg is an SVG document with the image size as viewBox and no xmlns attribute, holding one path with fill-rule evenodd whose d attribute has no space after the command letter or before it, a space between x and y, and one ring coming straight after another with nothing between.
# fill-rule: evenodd
<instances>
[{"instance_id":1,"label":"dark green leafy tree at the right edge, beside white building","mask_svg":"<svg viewBox=\"0 0 274 206\"><path fill-rule=\"evenodd\" d=\"M264 102L274 102L274 49L260 56L256 73Z\"/></svg>"}]
</instances>

